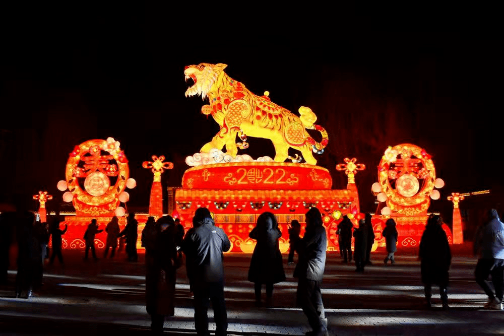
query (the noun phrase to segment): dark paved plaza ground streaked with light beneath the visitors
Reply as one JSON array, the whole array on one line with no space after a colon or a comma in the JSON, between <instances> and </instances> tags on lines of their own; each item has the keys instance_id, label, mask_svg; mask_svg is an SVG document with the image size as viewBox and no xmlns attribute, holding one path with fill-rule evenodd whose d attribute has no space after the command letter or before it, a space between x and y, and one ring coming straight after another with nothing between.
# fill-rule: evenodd
<instances>
[{"instance_id":1,"label":"dark paved plaza ground streaked with light beneath the visitors","mask_svg":"<svg viewBox=\"0 0 504 336\"><path fill-rule=\"evenodd\" d=\"M384 252L373 252L364 274L329 254L323 299L331 335L486 335L504 334L504 311L482 310L486 297L473 280L476 259L454 247L449 303L423 306L419 261L415 251L399 251L396 264L383 265ZM16 271L0 287L0 334L93 335L148 334L144 302L144 263L116 259L82 260L82 252L65 251L66 265L47 267L37 297L14 298ZM287 256L284 256L287 259ZM271 307L254 305L253 284L246 280L250 255L226 255L226 304L230 335L303 335L309 330L295 307L293 266L287 280L275 286ZM437 288L433 288L437 293ZM185 268L178 271L175 316L165 322L169 335L195 335ZM211 311L209 315L211 315ZM215 326L211 323L211 329Z\"/></svg>"}]
</instances>

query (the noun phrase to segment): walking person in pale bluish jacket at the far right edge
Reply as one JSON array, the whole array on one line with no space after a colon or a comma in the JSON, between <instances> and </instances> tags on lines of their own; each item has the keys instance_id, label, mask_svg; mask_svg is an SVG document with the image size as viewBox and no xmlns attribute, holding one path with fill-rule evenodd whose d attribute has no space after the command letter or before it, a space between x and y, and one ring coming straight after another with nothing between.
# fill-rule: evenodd
<instances>
[{"instance_id":1,"label":"walking person in pale bluish jacket at the far right edge","mask_svg":"<svg viewBox=\"0 0 504 336\"><path fill-rule=\"evenodd\" d=\"M485 222L474 240L474 252L479 254L476 264L476 283L488 296L485 308L502 310L504 289L504 224L499 220L497 210L487 212ZM487 278L491 275L495 292L488 286Z\"/></svg>"}]
</instances>

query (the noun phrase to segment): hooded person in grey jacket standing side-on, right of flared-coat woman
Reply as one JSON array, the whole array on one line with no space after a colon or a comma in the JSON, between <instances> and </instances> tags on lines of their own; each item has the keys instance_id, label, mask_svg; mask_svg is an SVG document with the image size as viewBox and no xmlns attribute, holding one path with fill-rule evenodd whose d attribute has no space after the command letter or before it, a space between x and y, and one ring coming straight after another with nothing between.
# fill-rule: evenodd
<instances>
[{"instance_id":1,"label":"hooded person in grey jacket standing side-on, right of flared-coat woman","mask_svg":"<svg viewBox=\"0 0 504 336\"><path fill-rule=\"evenodd\" d=\"M305 215L306 229L296 246L299 261L294 269L298 279L296 303L312 328L314 336L327 336L327 319L322 301L321 284L326 267L327 234L322 215L311 208Z\"/></svg>"}]
</instances>

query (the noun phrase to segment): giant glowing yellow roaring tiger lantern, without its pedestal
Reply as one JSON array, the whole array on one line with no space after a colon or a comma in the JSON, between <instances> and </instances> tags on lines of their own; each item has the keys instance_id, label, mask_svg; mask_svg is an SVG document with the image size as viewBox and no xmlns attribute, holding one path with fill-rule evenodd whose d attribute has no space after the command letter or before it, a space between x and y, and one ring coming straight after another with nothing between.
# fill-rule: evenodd
<instances>
[{"instance_id":1,"label":"giant glowing yellow roaring tiger lantern, without its pedestal","mask_svg":"<svg viewBox=\"0 0 504 336\"><path fill-rule=\"evenodd\" d=\"M272 141L276 155L274 161L284 162L291 159L300 162L297 155L291 157L289 148L301 152L306 163L315 165L317 160L312 152L321 154L328 143L326 130L315 125L317 116L310 108L301 106L300 116L273 103L264 96L251 93L243 84L230 78L224 69L226 64L200 63L185 67L185 80L192 79L194 85L185 91L186 97L201 96L209 99L208 105L201 109L202 113L212 115L219 124L220 130L200 152L226 148L226 153L235 157L238 148L248 147L246 137L264 138ZM306 129L318 130L322 135L321 142L316 142ZM242 140L236 143L236 136Z\"/></svg>"}]
</instances>

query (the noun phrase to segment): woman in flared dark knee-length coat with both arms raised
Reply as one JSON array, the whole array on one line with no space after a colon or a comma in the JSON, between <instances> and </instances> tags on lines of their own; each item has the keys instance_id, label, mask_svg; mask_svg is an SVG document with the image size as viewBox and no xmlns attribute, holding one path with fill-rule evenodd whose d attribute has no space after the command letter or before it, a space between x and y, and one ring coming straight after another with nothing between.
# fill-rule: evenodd
<instances>
[{"instance_id":1,"label":"woman in flared dark knee-length coat with both arms raised","mask_svg":"<svg viewBox=\"0 0 504 336\"><path fill-rule=\"evenodd\" d=\"M266 304L269 306L273 285L285 281L282 253L278 243L282 232L278 228L275 215L270 212L262 213L257 219L256 227L248 236L257 240L248 268L248 281L254 283L258 307L261 306L261 287L266 285Z\"/></svg>"}]
</instances>

